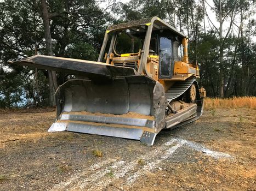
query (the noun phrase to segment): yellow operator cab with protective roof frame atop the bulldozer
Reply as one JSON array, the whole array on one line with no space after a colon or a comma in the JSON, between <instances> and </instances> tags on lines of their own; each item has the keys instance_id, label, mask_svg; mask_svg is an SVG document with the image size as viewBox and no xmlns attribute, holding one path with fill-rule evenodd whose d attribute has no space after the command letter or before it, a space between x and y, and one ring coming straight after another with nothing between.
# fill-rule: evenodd
<instances>
[{"instance_id":1,"label":"yellow operator cab with protective roof frame atop the bulldozer","mask_svg":"<svg viewBox=\"0 0 256 191\"><path fill-rule=\"evenodd\" d=\"M106 36L111 37L109 52L105 53L107 64L130 67L155 80L173 79L181 74L180 80L189 70L191 75L199 75L197 66L189 63L185 34L158 17L112 25L107 28ZM98 62L104 49L103 45Z\"/></svg>"}]
</instances>

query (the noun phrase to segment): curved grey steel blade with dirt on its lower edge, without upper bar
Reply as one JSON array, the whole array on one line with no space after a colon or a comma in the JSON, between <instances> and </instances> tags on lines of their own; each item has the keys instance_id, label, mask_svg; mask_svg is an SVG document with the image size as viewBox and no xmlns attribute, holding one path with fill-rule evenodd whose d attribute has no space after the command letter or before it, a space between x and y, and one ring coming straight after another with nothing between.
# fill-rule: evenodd
<instances>
[{"instance_id":1,"label":"curved grey steel blade with dirt on its lower edge, without upper bar","mask_svg":"<svg viewBox=\"0 0 256 191\"><path fill-rule=\"evenodd\" d=\"M136 139L153 145L166 125L163 86L143 75L111 82L69 80L55 93L57 121L49 132L67 130Z\"/></svg>"}]
</instances>

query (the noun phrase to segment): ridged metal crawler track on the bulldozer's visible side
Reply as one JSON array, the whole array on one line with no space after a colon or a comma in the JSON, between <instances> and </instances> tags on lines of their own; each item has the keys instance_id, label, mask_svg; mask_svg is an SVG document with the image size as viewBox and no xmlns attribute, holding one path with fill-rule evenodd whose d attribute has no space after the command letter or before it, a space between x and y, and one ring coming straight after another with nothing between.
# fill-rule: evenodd
<instances>
[{"instance_id":1,"label":"ridged metal crawler track on the bulldozer's visible side","mask_svg":"<svg viewBox=\"0 0 256 191\"><path fill-rule=\"evenodd\" d=\"M192 83L195 83L196 85L196 104L197 104L196 117L193 117L190 120L181 122L176 126L173 126L171 129L175 129L181 126L185 126L186 124L192 123L196 121L203 113L203 99L200 97L198 83L195 79L189 79L186 81L179 81L175 83L175 85L170 89L168 89L168 91L166 92L166 98L168 102L172 102L173 99L178 98L184 92L186 92L187 89L189 89L189 87L192 85Z\"/></svg>"}]
</instances>

